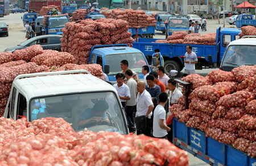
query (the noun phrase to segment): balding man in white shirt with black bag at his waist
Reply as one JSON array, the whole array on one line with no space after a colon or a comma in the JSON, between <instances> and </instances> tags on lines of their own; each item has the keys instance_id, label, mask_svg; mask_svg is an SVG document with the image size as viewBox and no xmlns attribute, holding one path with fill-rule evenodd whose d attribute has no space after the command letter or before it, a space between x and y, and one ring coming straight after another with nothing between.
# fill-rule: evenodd
<instances>
[{"instance_id":1,"label":"balding man in white shirt with black bag at his waist","mask_svg":"<svg viewBox=\"0 0 256 166\"><path fill-rule=\"evenodd\" d=\"M154 104L151 99L150 93L146 91L146 83L139 81L137 84L138 95L136 99L137 103L137 112L136 117L145 115L146 116L146 129L137 130L137 135L145 134L149 137L152 136L152 125L151 125L151 116L152 110L154 109ZM138 126L138 125L137 125Z\"/></svg>"}]
</instances>

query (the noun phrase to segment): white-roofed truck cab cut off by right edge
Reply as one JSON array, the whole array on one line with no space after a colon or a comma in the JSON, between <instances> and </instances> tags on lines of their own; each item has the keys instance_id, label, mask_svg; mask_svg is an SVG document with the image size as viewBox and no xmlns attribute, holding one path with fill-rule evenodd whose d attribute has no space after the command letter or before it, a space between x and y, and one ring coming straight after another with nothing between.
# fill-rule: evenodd
<instances>
[{"instance_id":1,"label":"white-roofed truck cab cut off by right edge","mask_svg":"<svg viewBox=\"0 0 256 166\"><path fill-rule=\"evenodd\" d=\"M254 36L256 37L256 36ZM234 67L256 65L256 39L242 38L229 43L221 61L220 69L231 71Z\"/></svg>"}]
</instances>

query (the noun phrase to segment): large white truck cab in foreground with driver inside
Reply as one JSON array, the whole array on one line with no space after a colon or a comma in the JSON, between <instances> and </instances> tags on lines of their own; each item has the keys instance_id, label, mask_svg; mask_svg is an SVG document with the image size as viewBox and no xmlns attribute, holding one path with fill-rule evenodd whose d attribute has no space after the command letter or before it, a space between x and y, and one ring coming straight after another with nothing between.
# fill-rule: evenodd
<instances>
[{"instance_id":1,"label":"large white truck cab in foreground with driver inside","mask_svg":"<svg viewBox=\"0 0 256 166\"><path fill-rule=\"evenodd\" d=\"M101 112L96 110L99 103L104 103ZM79 123L87 119L88 112L94 117L104 116L104 120L100 124L93 120L86 124ZM94 132L129 133L115 88L86 70L16 76L4 117L18 120L22 116L30 122L46 117L63 118L72 124L75 131L86 128Z\"/></svg>"}]
</instances>

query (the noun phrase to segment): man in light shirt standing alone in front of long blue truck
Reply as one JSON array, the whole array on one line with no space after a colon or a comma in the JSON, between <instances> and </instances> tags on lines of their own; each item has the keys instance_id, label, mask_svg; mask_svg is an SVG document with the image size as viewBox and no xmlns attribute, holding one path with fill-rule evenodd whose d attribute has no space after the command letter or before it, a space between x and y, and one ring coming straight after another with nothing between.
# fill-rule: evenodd
<instances>
[{"instance_id":1,"label":"man in light shirt standing alone in front of long blue truck","mask_svg":"<svg viewBox=\"0 0 256 166\"><path fill-rule=\"evenodd\" d=\"M187 49L187 52L185 53L185 56L184 56L184 63L185 63L184 73L195 74L196 73L195 64L197 63L196 53L192 52L191 45L187 45L186 49Z\"/></svg>"}]
</instances>

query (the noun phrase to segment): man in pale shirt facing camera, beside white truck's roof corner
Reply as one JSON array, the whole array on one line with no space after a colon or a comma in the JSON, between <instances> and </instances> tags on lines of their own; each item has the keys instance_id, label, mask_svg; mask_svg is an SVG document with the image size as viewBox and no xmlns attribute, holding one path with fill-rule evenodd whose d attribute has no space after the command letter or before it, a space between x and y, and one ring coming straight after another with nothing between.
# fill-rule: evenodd
<instances>
[{"instance_id":1,"label":"man in pale shirt facing camera, beside white truck's roof corner","mask_svg":"<svg viewBox=\"0 0 256 166\"><path fill-rule=\"evenodd\" d=\"M113 85L113 87L117 90L117 94L122 103L123 108L126 110L126 100L131 99L129 87L123 83L123 79L125 79L125 75L122 73L118 73L115 75L117 79L117 83Z\"/></svg>"}]
</instances>

